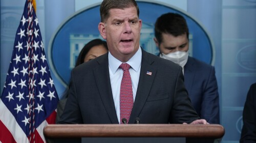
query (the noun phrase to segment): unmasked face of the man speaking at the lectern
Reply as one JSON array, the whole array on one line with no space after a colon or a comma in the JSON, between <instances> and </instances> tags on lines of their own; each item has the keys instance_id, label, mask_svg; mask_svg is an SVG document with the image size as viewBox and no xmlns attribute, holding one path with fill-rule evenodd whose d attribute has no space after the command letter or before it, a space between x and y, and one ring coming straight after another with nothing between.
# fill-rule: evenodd
<instances>
[{"instance_id":1,"label":"unmasked face of the man speaking at the lectern","mask_svg":"<svg viewBox=\"0 0 256 143\"><path fill-rule=\"evenodd\" d=\"M108 43L110 53L121 62L127 62L139 49L141 20L135 7L111 9L105 23L99 23L99 32Z\"/></svg>"}]
</instances>

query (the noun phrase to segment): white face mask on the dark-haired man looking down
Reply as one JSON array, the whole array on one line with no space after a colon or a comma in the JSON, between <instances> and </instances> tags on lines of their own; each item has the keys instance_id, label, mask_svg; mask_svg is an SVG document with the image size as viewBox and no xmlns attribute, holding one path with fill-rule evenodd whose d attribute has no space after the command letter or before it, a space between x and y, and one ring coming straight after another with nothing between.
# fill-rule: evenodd
<instances>
[{"instance_id":1,"label":"white face mask on the dark-haired man looking down","mask_svg":"<svg viewBox=\"0 0 256 143\"><path fill-rule=\"evenodd\" d=\"M163 59L172 61L183 68L187 63L188 52L176 51L176 52L170 52L168 54L161 53L160 57Z\"/></svg>"}]
</instances>

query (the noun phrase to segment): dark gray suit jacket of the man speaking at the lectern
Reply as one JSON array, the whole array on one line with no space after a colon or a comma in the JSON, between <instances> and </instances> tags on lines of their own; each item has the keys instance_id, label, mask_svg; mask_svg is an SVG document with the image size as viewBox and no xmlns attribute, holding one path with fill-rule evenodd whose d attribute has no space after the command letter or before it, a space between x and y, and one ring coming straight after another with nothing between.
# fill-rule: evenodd
<instances>
[{"instance_id":1,"label":"dark gray suit jacket of the man speaking at the lectern","mask_svg":"<svg viewBox=\"0 0 256 143\"><path fill-rule=\"evenodd\" d=\"M134 124L137 117L142 124L190 123L199 119L187 95L182 68L144 50L129 124ZM108 53L72 70L69 97L58 123L118 124Z\"/></svg>"}]
</instances>

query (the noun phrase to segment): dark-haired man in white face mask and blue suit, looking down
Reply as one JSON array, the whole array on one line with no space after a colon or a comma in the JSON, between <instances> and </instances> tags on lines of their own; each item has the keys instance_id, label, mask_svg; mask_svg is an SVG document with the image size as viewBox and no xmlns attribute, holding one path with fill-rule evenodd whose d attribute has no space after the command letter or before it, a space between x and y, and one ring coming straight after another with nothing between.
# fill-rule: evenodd
<instances>
[{"instance_id":1,"label":"dark-haired man in white face mask and blue suit, looking down","mask_svg":"<svg viewBox=\"0 0 256 143\"><path fill-rule=\"evenodd\" d=\"M155 23L159 56L180 65L191 103L198 115L210 124L220 123L219 93L215 68L188 56L188 27L177 13L161 15Z\"/></svg>"}]
</instances>

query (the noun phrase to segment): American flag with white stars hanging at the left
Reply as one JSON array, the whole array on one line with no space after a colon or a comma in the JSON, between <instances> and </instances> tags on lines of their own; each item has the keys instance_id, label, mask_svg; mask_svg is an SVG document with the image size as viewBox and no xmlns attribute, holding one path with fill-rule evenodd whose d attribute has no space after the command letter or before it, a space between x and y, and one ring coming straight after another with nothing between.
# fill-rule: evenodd
<instances>
[{"instance_id":1,"label":"American flag with white stars hanging at the left","mask_svg":"<svg viewBox=\"0 0 256 143\"><path fill-rule=\"evenodd\" d=\"M20 20L0 100L0 142L46 142L58 103L38 19L30 0Z\"/></svg>"}]
</instances>

